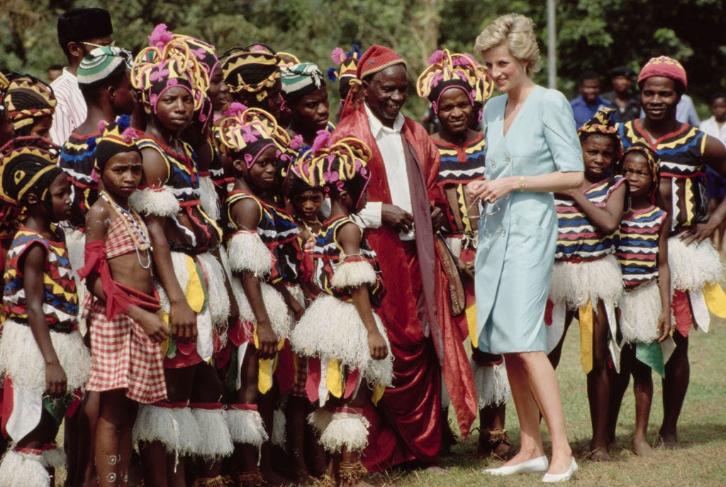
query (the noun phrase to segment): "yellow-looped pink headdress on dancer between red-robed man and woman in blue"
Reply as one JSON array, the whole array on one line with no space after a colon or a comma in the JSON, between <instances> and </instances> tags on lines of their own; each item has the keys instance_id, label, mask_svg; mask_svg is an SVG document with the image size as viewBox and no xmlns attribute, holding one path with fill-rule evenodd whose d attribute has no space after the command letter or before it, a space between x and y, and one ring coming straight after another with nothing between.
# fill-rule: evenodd
<instances>
[{"instance_id":1,"label":"yellow-looped pink headdress on dancer between red-robed man and woman in blue","mask_svg":"<svg viewBox=\"0 0 726 487\"><path fill-rule=\"evenodd\" d=\"M452 88L464 91L473 106L492 95L493 84L470 54L451 54L449 49L436 51L418 77L416 91L420 97L428 98L433 111L438 113L441 95Z\"/></svg>"}]
</instances>

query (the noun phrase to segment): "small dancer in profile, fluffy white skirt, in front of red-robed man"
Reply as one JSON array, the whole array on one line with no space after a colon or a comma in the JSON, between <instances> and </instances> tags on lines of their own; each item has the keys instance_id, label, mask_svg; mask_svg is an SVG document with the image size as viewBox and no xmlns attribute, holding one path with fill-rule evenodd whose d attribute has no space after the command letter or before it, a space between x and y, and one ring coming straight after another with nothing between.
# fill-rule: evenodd
<instances>
[{"instance_id":1,"label":"small dancer in profile, fluffy white skirt, in front of red-robed man","mask_svg":"<svg viewBox=\"0 0 726 487\"><path fill-rule=\"evenodd\" d=\"M321 294L295 327L293 348L308 356L306 390L320 408L311 414L320 441L332 455L325 485L369 486L360 462L368 443L362 408L378 403L393 380L393 359L386 331L372 310L383 297L375 253L352 215L367 202L370 149L357 139L328 146L322 133L311 152L313 163L295 166L311 185L324 186L330 218L315 244L315 282ZM313 372L314 371L314 372Z\"/></svg>"}]
</instances>

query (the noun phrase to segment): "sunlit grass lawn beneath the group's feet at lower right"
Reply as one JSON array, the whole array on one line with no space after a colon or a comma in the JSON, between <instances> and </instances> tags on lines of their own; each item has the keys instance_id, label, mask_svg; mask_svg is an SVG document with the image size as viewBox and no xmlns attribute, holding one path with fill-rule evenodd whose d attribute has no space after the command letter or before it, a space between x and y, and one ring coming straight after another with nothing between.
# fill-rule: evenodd
<instances>
[{"instance_id":1,"label":"sunlit grass lawn beneath the group's feet at lower right","mask_svg":"<svg viewBox=\"0 0 726 487\"><path fill-rule=\"evenodd\" d=\"M630 438L635 431L635 401L631 381L620 413L617 446L611 451L613 462L594 463L578 459L579 472L572 485L726 486L726 321L713 319L708 334L696 331L690 337L690 387L679 423L681 449L656 449L656 457L650 459L632 454ZM576 324L568 332L557 375L563 393L568 438L572 449L577 451L590 441L591 430L585 377L579 363L579 327ZM661 381L655 372L653 382L653 409L648 428L651 443L657 438L663 418ZM519 427L511 401L507 407L507 430L510 439L517 445ZM547 428L543 427L543 431L547 448ZM441 466L449 470L449 475L391 472L387 476L375 475L370 482L380 487L542 485L539 475L492 477L482 473L482 467L497 467L502 462L478 457L477 439L478 432L475 431L454 446L452 457L441 462Z\"/></svg>"}]
</instances>

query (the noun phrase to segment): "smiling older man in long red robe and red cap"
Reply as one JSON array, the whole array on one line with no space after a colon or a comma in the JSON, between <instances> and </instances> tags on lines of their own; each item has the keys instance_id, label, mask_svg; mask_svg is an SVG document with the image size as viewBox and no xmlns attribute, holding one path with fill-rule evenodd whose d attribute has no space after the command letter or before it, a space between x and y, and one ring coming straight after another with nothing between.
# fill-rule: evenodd
<instances>
[{"instance_id":1,"label":"smiling older man in long red robe and red cap","mask_svg":"<svg viewBox=\"0 0 726 487\"><path fill-rule=\"evenodd\" d=\"M370 200L361 213L378 254L387 295L380 315L393 353L393 388L367 407L371 423L363 462L369 470L416 461L436 465L441 446L441 372L462 436L476 417L476 391L454 327L449 285L436 245L446 200L436 185L439 151L425 129L401 114L408 94L406 62L371 46L358 63L362 99L353 94L333 139L356 137L373 156Z\"/></svg>"}]
</instances>

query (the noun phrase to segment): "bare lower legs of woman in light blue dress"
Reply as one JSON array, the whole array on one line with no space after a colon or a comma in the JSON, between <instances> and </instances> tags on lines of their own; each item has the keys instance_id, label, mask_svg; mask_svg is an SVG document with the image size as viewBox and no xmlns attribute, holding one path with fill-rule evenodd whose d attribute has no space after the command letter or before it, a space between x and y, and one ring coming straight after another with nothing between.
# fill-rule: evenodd
<instances>
[{"instance_id":1,"label":"bare lower legs of woman in light blue dress","mask_svg":"<svg viewBox=\"0 0 726 487\"><path fill-rule=\"evenodd\" d=\"M516 465L516 463L544 454L542 435L539 433L539 412L542 412L544 422L547 423L550 430L550 438L552 438L552 461L547 472L552 474L566 472L572 463L572 450L567 441L565 412L562 407L560 386L557 382L555 369L552 368L547 355L539 351L508 353L505 355L505 361L507 361L510 387L512 387L512 395L515 398L517 414L520 418L522 449L526 445L530 452L529 455L525 454L521 457L520 451L520 454L514 457L514 459L520 457L520 460L513 462L514 459L512 459L506 465ZM509 372L511 362L514 362L516 364L515 369L518 369L514 381L511 372ZM517 385L514 386L513 382L517 382ZM529 395L524 393L524 385L529 386ZM515 388L518 389L517 395L520 402L524 401L522 408L517 404L518 396L514 394ZM539 409L537 406L539 406Z\"/></svg>"}]
</instances>

